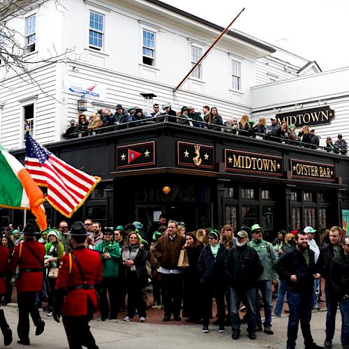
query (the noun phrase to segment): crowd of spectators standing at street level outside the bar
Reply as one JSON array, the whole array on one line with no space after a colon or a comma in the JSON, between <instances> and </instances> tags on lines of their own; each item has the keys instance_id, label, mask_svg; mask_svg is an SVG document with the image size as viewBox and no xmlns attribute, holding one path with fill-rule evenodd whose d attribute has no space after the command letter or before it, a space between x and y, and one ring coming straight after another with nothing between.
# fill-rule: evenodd
<instances>
[{"instance_id":1,"label":"crowd of spectators standing at street level outside the bar","mask_svg":"<svg viewBox=\"0 0 349 349\"><path fill-rule=\"evenodd\" d=\"M220 231L209 228L188 232L184 222L167 221L164 214L148 232L139 221L128 223L125 228L118 225L102 229L100 223L87 218L84 225L90 233L85 246L99 253L103 267L98 288L102 321L126 313L125 322L134 320L136 315L140 322L145 322L147 309L163 308L164 322L170 321L172 315L174 321L181 321L182 315L186 322L201 323L202 332L208 333L215 299L217 319L213 324L218 325L218 332L225 332L225 326L229 325L232 339L237 340L241 324L246 322L248 338L254 340L256 332L263 328L265 334L274 334L272 292L275 290L278 293L275 316L281 316L287 294L290 313L287 348L295 348L299 320L305 348L322 348L313 342L310 321L311 310L318 309L318 281L323 277L327 301L325 348L332 348L337 304L342 313L342 345L349 348L346 323L349 237L343 236L339 226L327 232L329 239L323 237L319 248L315 242L316 230L311 226L290 232L279 230L274 241L267 242L259 224L251 228L243 225L235 237L231 225L224 225ZM22 242L21 229L15 230L11 224L3 230L1 243L11 252L15 244ZM66 221L61 221L59 228L50 228L36 236L46 251L43 290L36 299L38 307L47 302L44 309L47 316L54 315L56 279L51 271L57 268L64 253L71 250L68 237ZM15 277L8 280L5 276L5 279L3 304L11 302L7 284L11 292L15 285ZM147 292L149 283L154 292L152 305ZM239 315L241 302L246 309L244 318ZM261 303L264 322L260 316Z\"/></svg>"}]
</instances>

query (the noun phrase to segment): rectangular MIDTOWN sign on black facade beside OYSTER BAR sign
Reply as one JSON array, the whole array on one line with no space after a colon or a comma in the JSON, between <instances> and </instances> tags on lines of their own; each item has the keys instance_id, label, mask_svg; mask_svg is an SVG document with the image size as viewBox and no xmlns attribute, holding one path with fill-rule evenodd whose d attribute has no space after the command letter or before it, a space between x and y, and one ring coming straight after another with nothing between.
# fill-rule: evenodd
<instances>
[{"instance_id":1,"label":"rectangular MIDTOWN sign on black facade beside OYSTER BAR sign","mask_svg":"<svg viewBox=\"0 0 349 349\"><path fill-rule=\"evenodd\" d=\"M225 169L227 171L256 172L282 176L282 158L264 154L247 153L225 149Z\"/></svg>"}]
</instances>

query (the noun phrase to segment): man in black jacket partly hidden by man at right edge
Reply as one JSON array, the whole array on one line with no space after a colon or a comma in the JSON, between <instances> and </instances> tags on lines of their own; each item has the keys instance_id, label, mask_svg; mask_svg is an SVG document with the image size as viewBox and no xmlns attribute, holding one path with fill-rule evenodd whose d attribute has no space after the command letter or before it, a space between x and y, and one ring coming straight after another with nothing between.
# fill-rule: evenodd
<instances>
[{"instance_id":1,"label":"man in black jacket partly hidden by man at right edge","mask_svg":"<svg viewBox=\"0 0 349 349\"><path fill-rule=\"evenodd\" d=\"M325 245L320 252L317 267L321 274L321 277L325 279L325 295L326 295L326 339L325 348L332 348L332 339L334 336L334 325L336 323L336 312L339 304L339 298L336 291L333 288L331 281L329 280L329 267L331 265L332 258L341 253L341 239L342 229L341 227L332 227L329 230L329 244Z\"/></svg>"}]
</instances>

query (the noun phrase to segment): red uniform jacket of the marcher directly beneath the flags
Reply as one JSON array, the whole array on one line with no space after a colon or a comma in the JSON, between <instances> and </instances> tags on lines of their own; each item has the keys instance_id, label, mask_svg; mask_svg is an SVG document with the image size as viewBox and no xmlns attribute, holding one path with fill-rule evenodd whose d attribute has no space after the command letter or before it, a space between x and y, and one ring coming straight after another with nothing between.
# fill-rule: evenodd
<instances>
[{"instance_id":1,"label":"red uniform jacket of the marcher directly beneath the flags","mask_svg":"<svg viewBox=\"0 0 349 349\"><path fill-rule=\"evenodd\" d=\"M22 248L21 248L22 245ZM29 246L38 258L27 248ZM22 251L20 251L22 249ZM40 269L43 267L45 246L29 239L15 246L13 258L10 262L10 271L15 274L16 267L20 267L20 278L17 280L17 292L38 292L43 288L43 272L24 272L25 269ZM22 271L22 272L21 272Z\"/></svg>"}]
</instances>

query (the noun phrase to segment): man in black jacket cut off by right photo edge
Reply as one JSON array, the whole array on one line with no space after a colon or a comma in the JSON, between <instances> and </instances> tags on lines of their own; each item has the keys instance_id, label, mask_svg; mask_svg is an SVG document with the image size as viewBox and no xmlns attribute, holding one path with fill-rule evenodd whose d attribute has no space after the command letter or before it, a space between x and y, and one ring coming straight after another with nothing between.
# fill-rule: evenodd
<instances>
[{"instance_id":1,"label":"man in black jacket cut off by right photo edge","mask_svg":"<svg viewBox=\"0 0 349 349\"><path fill-rule=\"evenodd\" d=\"M334 257L329 268L329 279L339 300L342 315L341 343L349 349L349 236L342 239L343 250Z\"/></svg>"}]
</instances>

